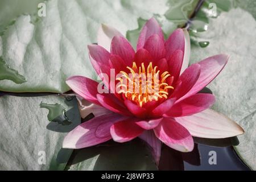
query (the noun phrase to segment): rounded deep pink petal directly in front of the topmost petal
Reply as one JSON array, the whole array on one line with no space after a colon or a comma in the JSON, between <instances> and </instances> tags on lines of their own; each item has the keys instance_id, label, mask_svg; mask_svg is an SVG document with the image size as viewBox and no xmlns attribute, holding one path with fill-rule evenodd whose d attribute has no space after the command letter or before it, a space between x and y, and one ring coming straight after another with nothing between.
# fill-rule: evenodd
<instances>
[{"instance_id":1,"label":"rounded deep pink petal directly in front of the topmost petal","mask_svg":"<svg viewBox=\"0 0 256 182\"><path fill-rule=\"evenodd\" d=\"M157 34L151 35L147 39L147 42L144 45L144 49L150 52L150 55L154 61L159 61L166 56L164 42Z\"/></svg>"}]
</instances>

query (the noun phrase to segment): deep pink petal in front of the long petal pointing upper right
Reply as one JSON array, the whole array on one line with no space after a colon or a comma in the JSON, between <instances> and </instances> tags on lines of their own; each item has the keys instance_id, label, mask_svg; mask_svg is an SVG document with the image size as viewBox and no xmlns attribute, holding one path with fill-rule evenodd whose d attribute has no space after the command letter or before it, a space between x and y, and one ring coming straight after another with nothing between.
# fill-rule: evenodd
<instances>
[{"instance_id":1,"label":"deep pink petal in front of the long petal pointing upper right","mask_svg":"<svg viewBox=\"0 0 256 182\"><path fill-rule=\"evenodd\" d=\"M174 92L172 93L171 97L176 97L177 99L184 96L192 89L195 85L196 81L198 80L200 75L200 65L199 64L192 64L190 67L185 69L185 71L177 80L177 83L181 82L179 86L175 86Z\"/></svg>"}]
</instances>

